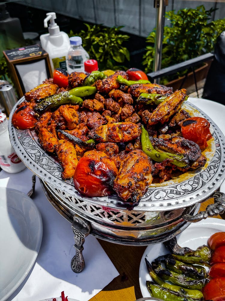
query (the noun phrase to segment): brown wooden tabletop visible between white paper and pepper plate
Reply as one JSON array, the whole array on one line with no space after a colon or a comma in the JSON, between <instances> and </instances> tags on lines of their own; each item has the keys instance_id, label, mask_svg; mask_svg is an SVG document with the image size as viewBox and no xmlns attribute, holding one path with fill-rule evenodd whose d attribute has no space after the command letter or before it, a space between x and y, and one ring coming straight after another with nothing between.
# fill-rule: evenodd
<instances>
[{"instance_id":1,"label":"brown wooden tabletop visible between white paper and pepper plate","mask_svg":"<svg viewBox=\"0 0 225 301\"><path fill-rule=\"evenodd\" d=\"M199 211L213 203L209 199L201 204ZM215 218L221 218L216 216ZM139 285L139 266L146 246L124 246L99 240L111 261L119 272L101 292L91 298L91 301L134 301L142 297Z\"/></svg>"}]
</instances>

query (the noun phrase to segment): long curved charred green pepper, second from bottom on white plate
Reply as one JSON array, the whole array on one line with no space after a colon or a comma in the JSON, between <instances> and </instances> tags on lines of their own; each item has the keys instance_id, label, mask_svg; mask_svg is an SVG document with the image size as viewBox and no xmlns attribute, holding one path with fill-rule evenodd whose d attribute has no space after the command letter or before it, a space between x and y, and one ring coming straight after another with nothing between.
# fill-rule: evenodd
<instances>
[{"instance_id":1,"label":"long curved charred green pepper, second from bottom on white plate","mask_svg":"<svg viewBox=\"0 0 225 301\"><path fill-rule=\"evenodd\" d=\"M169 284L169 283L163 281L161 278L158 277L158 275L155 274L155 272L152 269L152 265L148 262L148 260L146 258L145 258L145 262L146 262L146 266L147 266L150 276L161 287L165 287L168 290L172 290L174 292L181 293L188 297L203 299L203 294L202 294L202 292L200 292L200 290L190 290L188 288L183 288L178 285Z\"/></svg>"}]
</instances>

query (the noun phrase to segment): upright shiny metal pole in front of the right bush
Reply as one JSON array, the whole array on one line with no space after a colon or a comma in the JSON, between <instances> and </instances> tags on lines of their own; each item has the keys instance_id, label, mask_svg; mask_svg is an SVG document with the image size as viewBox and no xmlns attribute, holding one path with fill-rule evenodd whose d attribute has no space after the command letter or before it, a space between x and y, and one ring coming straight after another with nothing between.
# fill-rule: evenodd
<instances>
[{"instance_id":1,"label":"upright shiny metal pole in front of the right bush","mask_svg":"<svg viewBox=\"0 0 225 301\"><path fill-rule=\"evenodd\" d=\"M166 5L168 5L167 0L154 1L154 7L157 8L157 19L156 19L155 57L154 57L153 72L161 69ZM160 83L160 79L159 78L154 79L154 82Z\"/></svg>"}]
</instances>

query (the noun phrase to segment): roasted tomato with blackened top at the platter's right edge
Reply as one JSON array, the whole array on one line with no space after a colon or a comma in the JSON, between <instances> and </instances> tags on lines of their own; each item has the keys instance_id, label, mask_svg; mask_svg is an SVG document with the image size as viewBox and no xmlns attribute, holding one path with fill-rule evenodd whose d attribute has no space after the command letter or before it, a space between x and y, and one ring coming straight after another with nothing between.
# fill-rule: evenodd
<instances>
[{"instance_id":1,"label":"roasted tomato with blackened top at the platter's right edge","mask_svg":"<svg viewBox=\"0 0 225 301\"><path fill-rule=\"evenodd\" d=\"M202 117L191 117L184 120L181 127L185 139L197 143L201 150L208 146L207 141L212 138L209 130L210 123Z\"/></svg>"}]
</instances>

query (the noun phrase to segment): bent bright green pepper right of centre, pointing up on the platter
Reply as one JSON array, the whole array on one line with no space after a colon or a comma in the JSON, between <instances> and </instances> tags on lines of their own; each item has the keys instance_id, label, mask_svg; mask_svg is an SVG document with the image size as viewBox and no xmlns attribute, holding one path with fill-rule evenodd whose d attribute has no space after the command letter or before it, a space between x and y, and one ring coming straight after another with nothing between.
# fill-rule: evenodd
<instances>
[{"instance_id":1,"label":"bent bright green pepper right of centre, pointing up on the platter","mask_svg":"<svg viewBox=\"0 0 225 301\"><path fill-rule=\"evenodd\" d=\"M184 167L188 164L189 160L186 155L183 154L170 154L167 152L159 152L153 148L151 141L149 140L149 134L146 129L141 126L141 145L142 150L148 155L152 160L156 162L162 162L164 159L172 159L171 163L176 166Z\"/></svg>"}]
</instances>

